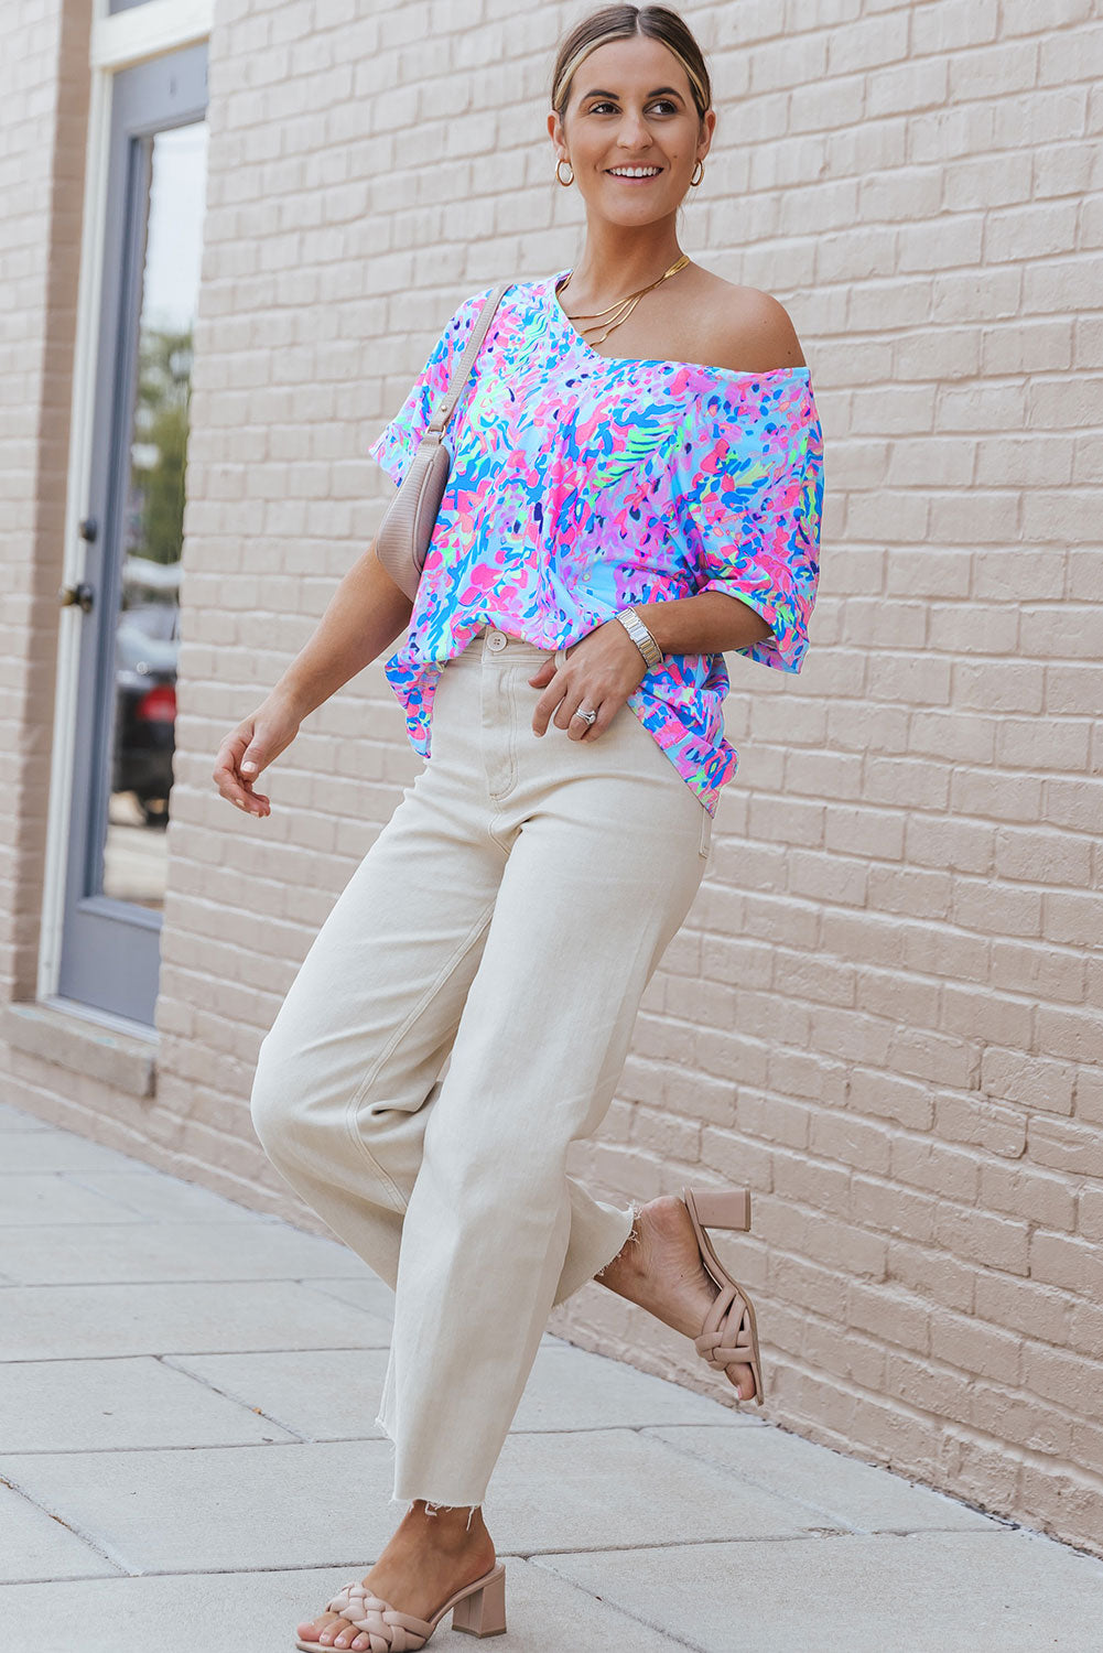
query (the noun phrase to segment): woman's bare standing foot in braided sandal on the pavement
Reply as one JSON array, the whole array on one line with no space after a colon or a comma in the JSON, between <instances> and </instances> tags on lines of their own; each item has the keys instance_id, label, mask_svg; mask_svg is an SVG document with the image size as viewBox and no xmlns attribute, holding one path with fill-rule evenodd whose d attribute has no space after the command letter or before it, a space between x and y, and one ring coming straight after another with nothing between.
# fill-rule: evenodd
<instances>
[{"instance_id":1,"label":"woman's bare standing foot in braided sandal on the pavement","mask_svg":"<svg viewBox=\"0 0 1103 1653\"><path fill-rule=\"evenodd\" d=\"M494 1546L478 1508L468 1529L468 1509L425 1512L425 1499L413 1501L394 1537L369 1572L364 1587L403 1613L432 1618L442 1602L494 1565ZM367 1648L367 1632L341 1613L319 1613L298 1627L303 1641L322 1648Z\"/></svg>"}]
</instances>

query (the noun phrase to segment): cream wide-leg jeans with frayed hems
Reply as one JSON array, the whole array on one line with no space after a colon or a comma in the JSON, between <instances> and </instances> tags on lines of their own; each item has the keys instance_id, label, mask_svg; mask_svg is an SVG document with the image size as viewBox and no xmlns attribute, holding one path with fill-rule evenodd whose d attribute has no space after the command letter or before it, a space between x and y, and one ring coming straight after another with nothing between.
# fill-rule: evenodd
<instances>
[{"instance_id":1,"label":"cream wide-leg jeans with frayed hems","mask_svg":"<svg viewBox=\"0 0 1103 1653\"><path fill-rule=\"evenodd\" d=\"M708 810L632 707L597 741L532 732L544 660L486 626L448 661L432 757L253 1081L273 1165L395 1291L375 1422L397 1503L485 1501L549 1309L630 1233L567 1150L609 1111L709 853Z\"/></svg>"}]
</instances>

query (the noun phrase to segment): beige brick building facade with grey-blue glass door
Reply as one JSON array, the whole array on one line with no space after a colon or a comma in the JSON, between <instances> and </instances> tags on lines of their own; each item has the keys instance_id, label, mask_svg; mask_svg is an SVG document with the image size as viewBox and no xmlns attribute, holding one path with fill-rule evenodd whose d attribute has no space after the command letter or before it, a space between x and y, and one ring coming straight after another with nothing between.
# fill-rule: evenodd
<instances>
[{"instance_id":1,"label":"beige brick building facade with grey-blue glass door","mask_svg":"<svg viewBox=\"0 0 1103 1653\"><path fill-rule=\"evenodd\" d=\"M458 301L580 251L544 122L585 10L5 31L5 1098L316 1231L253 1063L420 759L377 661L270 818L210 772L370 537L367 445ZM681 241L800 334L820 598L799 678L729 658L739 775L571 1169L746 1182L769 1415L1103 1551L1103 21L683 15L719 121ZM597 1284L551 1329L716 1393Z\"/></svg>"}]
</instances>

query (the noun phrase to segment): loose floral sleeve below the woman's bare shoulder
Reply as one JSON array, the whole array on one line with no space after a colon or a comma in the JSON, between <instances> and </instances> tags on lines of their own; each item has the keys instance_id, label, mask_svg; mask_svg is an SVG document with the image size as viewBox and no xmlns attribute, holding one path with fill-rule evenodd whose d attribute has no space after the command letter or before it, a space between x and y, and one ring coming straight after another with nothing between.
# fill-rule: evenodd
<instances>
[{"instance_id":1,"label":"loose floral sleeve below the woman's bare shoulder","mask_svg":"<svg viewBox=\"0 0 1103 1653\"><path fill-rule=\"evenodd\" d=\"M683 526L700 592L728 592L761 613L772 635L734 650L779 671L800 671L815 603L824 503L824 433L812 383L769 375L751 405L738 390L695 403L681 431Z\"/></svg>"}]
</instances>

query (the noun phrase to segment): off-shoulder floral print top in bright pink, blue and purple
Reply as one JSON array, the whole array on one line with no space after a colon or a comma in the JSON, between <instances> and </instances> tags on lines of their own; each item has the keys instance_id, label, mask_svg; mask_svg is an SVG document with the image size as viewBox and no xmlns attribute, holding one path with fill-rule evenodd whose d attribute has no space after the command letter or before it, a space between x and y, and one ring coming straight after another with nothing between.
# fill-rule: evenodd
<instances>
[{"instance_id":1,"label":"off-shoulder floral print top in bright pink, blue and purple","mask_svg":"<svg viewBox=\"0 0 1103 1653\"><path fill-rule=\"evenodd\" d=\"M448 484L405 641L385 663L425 757L437 679L483 625L556 650L627 603L716 590L772 628L736 653L779 671L804 660L824 496L810 369L605 357L559 302L567 274L503 294L445 426ZM456 309L370 445L392 481L489 291ZM723 653L666 655L627 701L709 813L738 765L728 688Z\"/></svg>"}]
</instances>

